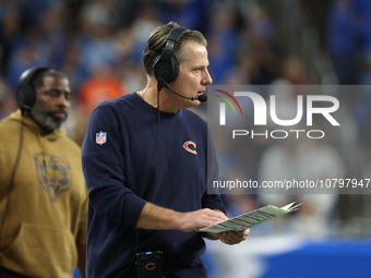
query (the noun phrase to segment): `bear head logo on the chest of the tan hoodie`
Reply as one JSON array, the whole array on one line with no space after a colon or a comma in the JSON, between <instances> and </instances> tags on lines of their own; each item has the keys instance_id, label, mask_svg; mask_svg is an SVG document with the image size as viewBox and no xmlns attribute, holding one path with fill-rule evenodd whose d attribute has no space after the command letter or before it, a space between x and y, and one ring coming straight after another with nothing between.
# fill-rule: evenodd
<instances>
[{"instance_id":1,"label":"bear head logo on the chest of the tan hoodie","mask_svg":"<svg viewBox=\"0 0 371 278\"><path fill-rule=\"evenodd\" d=\"M48 193L49 200L56 202L61 193L71 188L70 166L58 156L36 154L34 160L38 182Z\"/></svg>"}]
</instances>

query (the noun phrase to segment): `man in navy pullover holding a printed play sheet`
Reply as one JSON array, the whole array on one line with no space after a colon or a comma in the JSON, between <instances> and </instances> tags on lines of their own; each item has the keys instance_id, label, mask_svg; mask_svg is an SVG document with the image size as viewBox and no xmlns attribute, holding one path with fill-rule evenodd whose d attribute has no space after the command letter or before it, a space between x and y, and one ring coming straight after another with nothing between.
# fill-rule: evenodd
<instances>
[{"instance_id":1,"label":"man in navy pullover holding a printed play sheet","mask_svg":"<svg viewBox=\"0 0 371 278\"><path fill-rule=\"evenodd\" d=\"M149 36L143 53L146 87L100 104L91 116L82 147L88 278L136 277L135 252L154 251L164 253L165 277L207 277L203 237L236 244L249 234L200 232L228 219L219 196L207 194L217 173L207 123L185 109L200 105L212 77L201 33L187 29L165 47L175 28L170 22ZM154 68L163 48L173 50L179 64L171 89L185 98L157 87Z\"/></svg>"}]
</instances>

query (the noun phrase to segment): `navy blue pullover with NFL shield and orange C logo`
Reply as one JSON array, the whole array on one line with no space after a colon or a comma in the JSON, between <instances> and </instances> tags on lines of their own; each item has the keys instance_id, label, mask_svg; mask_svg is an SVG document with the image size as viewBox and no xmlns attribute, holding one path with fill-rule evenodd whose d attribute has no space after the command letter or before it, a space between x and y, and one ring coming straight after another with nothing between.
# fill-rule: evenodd
<instances>
[{"instance_id":1,"label":"navy blue pullover with NFL shield and orange C logo","mask_svg":"<svg viewBox=\"0 0 371 278\"><path fill-rule=\"evenodd\" d=\"M88 278L120 277L129 266L146 202L183 213L225 210L219 196L206 192L218 171L208 132L207 123L188 109L160 112L159 138L147 167L155 149L157 109L133 93L93 111L82 147L89 197ZM140 229L136 245L136 252L163 251L166 270L177 277L207 277L200 257L205 251L201 233Z\"/></svg>"}]
</instances>

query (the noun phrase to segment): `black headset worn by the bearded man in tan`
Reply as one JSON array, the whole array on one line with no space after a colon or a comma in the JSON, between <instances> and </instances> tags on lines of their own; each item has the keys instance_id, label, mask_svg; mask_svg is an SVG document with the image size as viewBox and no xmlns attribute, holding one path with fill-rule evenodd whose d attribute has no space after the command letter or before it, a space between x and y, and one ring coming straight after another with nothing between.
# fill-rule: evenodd
<instances>
[{"instance_id":1,"label":"black headset worn by the bearded man in tan","mask_svg":"<svg viewBox=\"0 0 371 278\"><path fill-rule=\"evenodd\" d=\"M21 108L22 112L32 110L36 101L36 90L31 83L36 73L40 71L52 70L52 68L31 68L22 73L15 90L16 105Z\"/></svg>"}]
</instances>

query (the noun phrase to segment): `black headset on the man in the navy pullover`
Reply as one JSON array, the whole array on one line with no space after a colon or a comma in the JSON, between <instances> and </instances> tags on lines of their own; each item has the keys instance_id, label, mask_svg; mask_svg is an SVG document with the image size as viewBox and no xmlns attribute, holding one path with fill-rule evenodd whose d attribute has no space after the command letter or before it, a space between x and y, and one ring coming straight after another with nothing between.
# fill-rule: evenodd
<instances>
[{"instance_id":1,"label":"black headset on the man in the navy pullover","mask_svg":"<svg viewBox=\"0 0 371 278\"><path fill-rule=\"evenodd\" d=\"M175 81L179 73L179 63L173 55L173 46L181 38L184 33L189 32L185 27L175 27L167 36L166 46L159 57L154 62L154 75L156 80L161 77L165 82L170 83Z\"/></svg>"}]
</instances>

